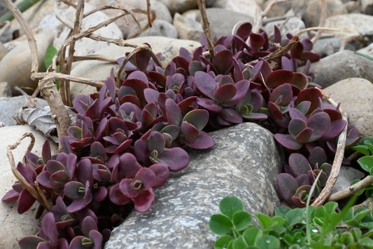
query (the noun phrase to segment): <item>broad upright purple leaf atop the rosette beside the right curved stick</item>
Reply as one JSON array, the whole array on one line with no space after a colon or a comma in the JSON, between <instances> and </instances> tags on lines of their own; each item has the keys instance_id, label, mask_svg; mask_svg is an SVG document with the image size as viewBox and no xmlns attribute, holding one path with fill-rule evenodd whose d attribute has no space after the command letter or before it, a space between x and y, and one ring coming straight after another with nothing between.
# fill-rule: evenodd
<instances>
[{"instance_id":1,"label":"broad upright purple leaf atop the rosette beside the right curved stick","mask_svg":"<svg viewBox=\"0 0 373 249\"><path fill-rule=\"evenodd\" d=\"M325 112L318 112L312 115L307 121L307 127L314 130L309 138L309 142L314 142L323 137L323 135L328 132L329 126L330 117Z\"/></svg>"}]
</instances>

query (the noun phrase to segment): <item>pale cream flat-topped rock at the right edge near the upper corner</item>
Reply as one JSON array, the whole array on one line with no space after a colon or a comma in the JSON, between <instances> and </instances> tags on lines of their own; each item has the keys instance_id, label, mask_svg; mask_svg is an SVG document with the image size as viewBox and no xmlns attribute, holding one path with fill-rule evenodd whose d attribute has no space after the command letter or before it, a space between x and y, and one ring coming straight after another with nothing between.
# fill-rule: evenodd
<instances>
[{"instance_id":1,"label":"pale cream flat-topped rock at the right edge near the upper corner","mask_svg":"<svg viewBox=\"0 0 373 249\"><path fill-rule=\"evenodd\" d=\"M349 36L373 36L373 26L370 25L372 22L372 15L351 13L327 18L325 27L339 29L339 31L330 32L330 34L334 34L340 39L346 39Z\"/></svg>"}]
</instances>

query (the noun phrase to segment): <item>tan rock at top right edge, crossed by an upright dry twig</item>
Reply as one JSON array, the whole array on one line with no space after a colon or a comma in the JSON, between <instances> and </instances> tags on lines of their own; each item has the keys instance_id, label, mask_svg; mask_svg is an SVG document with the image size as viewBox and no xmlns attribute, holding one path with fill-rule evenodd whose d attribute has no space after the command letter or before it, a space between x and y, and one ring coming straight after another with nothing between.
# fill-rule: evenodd
<instances>
[{"instance_id":1,"label":"tan rock at top right edge, crossed by an upright dry twig","mask_svg":"<svg viewBox=\"0 0 373 249\"><path fill-rule=\"evenodd\" d=\"M316 27L321 18L320 0L296 0L293 8L305 8L303 18L307 27ZM326 16L346 14L347 10L341 0L326 0ZM326 25L328 27L328 25ZM339 26L341 27L341 26Z\"/></svg>"}]
</instances>

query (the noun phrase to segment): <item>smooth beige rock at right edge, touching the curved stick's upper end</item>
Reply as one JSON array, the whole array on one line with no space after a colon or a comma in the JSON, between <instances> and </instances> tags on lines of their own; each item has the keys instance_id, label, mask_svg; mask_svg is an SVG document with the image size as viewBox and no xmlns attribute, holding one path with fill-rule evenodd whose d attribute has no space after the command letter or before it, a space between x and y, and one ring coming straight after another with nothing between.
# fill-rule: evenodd
<instances>
[{"instance_id":1,"label":"smooth beige rock at right edge, touching the curved stick's upper end","mask_svg":"<svg viewBox=\"0 0 373 249\"><path fill-rule=\"evenodd\" d=\"M349 116L349 123L358 129L360 137L373 136L373 85L366 79L351 78L324 89Z\"/></svg>"}]
</instances>

